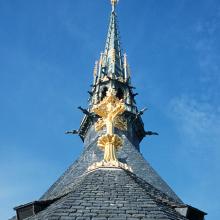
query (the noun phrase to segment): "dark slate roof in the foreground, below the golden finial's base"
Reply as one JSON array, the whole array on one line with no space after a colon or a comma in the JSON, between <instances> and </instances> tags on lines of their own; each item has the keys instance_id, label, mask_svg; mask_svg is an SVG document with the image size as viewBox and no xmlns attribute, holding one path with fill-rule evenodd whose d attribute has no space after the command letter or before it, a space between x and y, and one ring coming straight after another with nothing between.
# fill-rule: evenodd
<instances>
[{"instance_id":1,"label":"dark slate roof in the foreground, below the golden finial's base","mask_svg":"<svg viewBox=\"0 0 220 220\"><path fill-rule=\"evenodd\" d=\"M122 169L86 173L44 211L27 220L186 220L181 205Z\"/></svg>"}]
</instances>

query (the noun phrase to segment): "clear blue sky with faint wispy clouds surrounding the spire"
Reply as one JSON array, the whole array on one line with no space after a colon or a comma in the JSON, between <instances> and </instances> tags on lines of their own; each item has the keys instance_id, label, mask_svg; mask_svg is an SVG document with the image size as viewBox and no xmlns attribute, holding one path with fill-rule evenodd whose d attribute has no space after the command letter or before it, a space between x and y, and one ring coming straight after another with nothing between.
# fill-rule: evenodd
<instances>
[{"instance_id":1,"label":"clear blue sky with faint wispy clouds surrounding the spire","mask_svg":"<svg viewBox=\"0 0 220 220\"><path fill-rule=\"evenodd\" d=\"M38 199L82 152L77 129L107 0L0 0L0 218ZM220 1L121 0L122 47L147 106L141 151L181 199L220 216Z\"/></svg>"}]
</instances>

